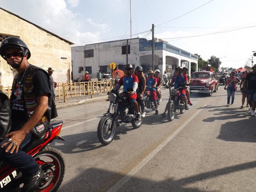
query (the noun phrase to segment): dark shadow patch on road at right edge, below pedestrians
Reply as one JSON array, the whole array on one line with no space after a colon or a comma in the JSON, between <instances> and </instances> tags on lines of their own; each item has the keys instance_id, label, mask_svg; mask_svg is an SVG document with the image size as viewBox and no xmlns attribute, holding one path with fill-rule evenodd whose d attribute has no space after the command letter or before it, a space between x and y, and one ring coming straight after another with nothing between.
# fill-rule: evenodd
<instances>
[{"instance_id":1,"label":"dark shadow patch on road at right edge, below pedestrians","mask_svg":"<svg viewBox=\"0 0 256 192\"><path fill-rule=\"evenodd\" d=\"M236 142L256 142L255 117L222 124L218 139Z\"/></svg>"}]
</instances>

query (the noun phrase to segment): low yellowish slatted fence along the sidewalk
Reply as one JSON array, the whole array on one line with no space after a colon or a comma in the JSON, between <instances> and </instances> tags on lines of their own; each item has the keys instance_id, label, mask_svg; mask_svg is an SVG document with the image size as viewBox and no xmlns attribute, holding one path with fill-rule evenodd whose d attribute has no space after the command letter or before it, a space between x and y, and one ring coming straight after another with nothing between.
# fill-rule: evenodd
<instances>
[{"instance_id":1,"label":"low yellowish slatted fence along the sidewalk","mask_svg":"<svg viewBox=\"0 0 256 192\"><path fill-rule=\"evenodd\" d=\"M102 81L90 81L90 82L78 82L78 83L58 83L57 87L54 88L55 96L58 99L64 99L68 97L85 96L99 94L102 92L108 92L113 88L113 82L111 80ZM12 87L1 86L2 92L6 93L10 98Z\"/></svg>"}]
</instances>

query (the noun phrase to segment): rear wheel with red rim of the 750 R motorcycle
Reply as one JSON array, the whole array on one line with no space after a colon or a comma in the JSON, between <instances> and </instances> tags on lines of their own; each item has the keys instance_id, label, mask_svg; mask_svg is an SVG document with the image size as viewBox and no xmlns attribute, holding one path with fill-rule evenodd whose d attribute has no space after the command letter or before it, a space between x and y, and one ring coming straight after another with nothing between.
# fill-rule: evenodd
<instances>
[{"instance_id":1,"label":"rear wheel with red rim of the 750 R motorcycle","mask_svg":"<svg viewBox=\"0 0 256 192\"><path fill-rule=\"evenodd\" d=\"M62 153L52 146L46 146L44 150L36 154L34 159L42 166L45 175L36 192L56 192L65 173L65 162Z\"/></svg>"}]
</instances>

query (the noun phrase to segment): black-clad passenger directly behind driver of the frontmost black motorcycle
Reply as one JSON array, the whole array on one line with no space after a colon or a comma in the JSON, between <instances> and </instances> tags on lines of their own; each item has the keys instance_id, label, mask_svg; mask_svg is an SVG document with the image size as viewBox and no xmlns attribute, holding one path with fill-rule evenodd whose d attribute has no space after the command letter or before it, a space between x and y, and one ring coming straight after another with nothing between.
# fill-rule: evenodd
<instances>
[{"instance_id":1,"label":"black-clad passenger directly behind driver of the frontmost black motorcycle","mask_svg":"<svg viewBox=\"0 0 256 192\"><path fill-rule=\"evenodd\" d=\"M140 108L142 111L141 116L145 117L146 110L145 110L145 103L144 103L143 96L146 90L146 78L144 77L144 73L142 71L143 71L143 68L141 66L137 66L134 71L134 74L136 74L139 80L138 89L137 89L137 100L140 103Z\"/></svg>"}]
</instances>

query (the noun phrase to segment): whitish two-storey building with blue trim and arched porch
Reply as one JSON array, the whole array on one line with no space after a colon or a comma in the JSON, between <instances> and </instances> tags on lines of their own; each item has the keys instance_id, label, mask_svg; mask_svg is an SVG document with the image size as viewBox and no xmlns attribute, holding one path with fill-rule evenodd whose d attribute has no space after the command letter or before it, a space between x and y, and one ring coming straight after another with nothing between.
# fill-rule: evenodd
<instances>
[{"instance_id":1,"label":"whitish two-storey building with blue trim and arched porch","mask_svg":"<svg viewBox=\"0 0 256 192\"><path fill-rule=\"evenodd\" d=\"M173 74L177 66L186 66L189 74L191 65L198 70L198 56L177 48L162 40L155 40L154 66L161 74L167 70ZM128 39L128 64L134 67L142 66L144 72L152 70L152 41L145 38ZM111 72L110 63L114 62L117 69L124 70L126 64L126 39L84 46L72 46L73 78L84 78L84 72L89 72L90 78L96 78L96 73Z\"/></svg>"}]
</instances>

